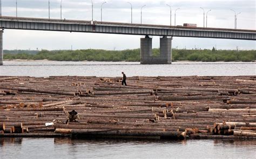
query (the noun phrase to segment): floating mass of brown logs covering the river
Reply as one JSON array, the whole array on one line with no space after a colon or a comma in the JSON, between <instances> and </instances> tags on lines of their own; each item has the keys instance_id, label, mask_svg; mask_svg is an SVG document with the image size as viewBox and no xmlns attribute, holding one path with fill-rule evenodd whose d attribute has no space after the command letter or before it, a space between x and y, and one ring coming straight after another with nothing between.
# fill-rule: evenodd
<instances>
[{"instance_id":1,"label":"floating mass of brown logs covering the river","mask_svg":"<svg viewBox=\"0 0 256 159\"><path fill-rule=\"evenodd\" d=\"M256 137L256 76L121 80L0 77L0 136Z\"/></svg>"}]
</instances>

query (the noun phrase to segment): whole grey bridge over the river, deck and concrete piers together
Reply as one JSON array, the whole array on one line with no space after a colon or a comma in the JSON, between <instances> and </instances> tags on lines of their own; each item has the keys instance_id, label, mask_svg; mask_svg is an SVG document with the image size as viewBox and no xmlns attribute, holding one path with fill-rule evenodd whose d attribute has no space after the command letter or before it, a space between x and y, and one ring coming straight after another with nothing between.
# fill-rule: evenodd
<instances>
[{"instance_id":1,"label":"whole grey bridge over the river, deck and concrete piers together","mask_svg":"<svg viewBox=\"0 0 256 159\"><path fill-rule=\"evenodd\" d=\"M166 25L145 25L85 20L60 20L0 16L0 65L3 64L3 30L65 31L107 34L145 35L140 39L141 64L169 64L172 62L172 38L217 38L256 40L256 30L203 28ZM160 56L152 56L152 38L160 37Z\"/></svg>"}]
</instances>

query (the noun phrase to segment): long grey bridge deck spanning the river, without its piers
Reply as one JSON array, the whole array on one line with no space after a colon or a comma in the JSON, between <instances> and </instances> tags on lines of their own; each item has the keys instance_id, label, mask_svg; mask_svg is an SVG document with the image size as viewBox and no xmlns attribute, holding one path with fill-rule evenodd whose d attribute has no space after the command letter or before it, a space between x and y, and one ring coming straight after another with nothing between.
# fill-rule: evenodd
<instances>
[{"instance_id":1,"label":"long grey bridge deck spanning the river, without its piers","mask_svg":"<svg viewBox=\"0 0 256 159\"><path fill-rule=\"evenodd\" d=\"M129 24L85 20L0 17L0 28L173 37L256 40L256 30Z\"/></svg>"}]
</instances>

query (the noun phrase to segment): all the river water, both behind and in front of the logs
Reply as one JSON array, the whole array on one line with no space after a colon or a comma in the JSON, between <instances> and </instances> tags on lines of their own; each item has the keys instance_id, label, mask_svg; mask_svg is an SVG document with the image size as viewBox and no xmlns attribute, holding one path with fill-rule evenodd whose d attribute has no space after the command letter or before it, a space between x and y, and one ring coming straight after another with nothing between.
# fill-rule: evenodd
<instances>
[{"instance_id":1,"label":"all the river water, both behind and in front of the logs","mask_svg":"<svg viewBox=\"0 0 256 159\"><path fill-rule=\"evenodd\" d=\"M245 76L256 63L5 61L0 76ZM0 158L256 158L256 140L71 140L0 138Z\"/></svg>"}]
</instances>

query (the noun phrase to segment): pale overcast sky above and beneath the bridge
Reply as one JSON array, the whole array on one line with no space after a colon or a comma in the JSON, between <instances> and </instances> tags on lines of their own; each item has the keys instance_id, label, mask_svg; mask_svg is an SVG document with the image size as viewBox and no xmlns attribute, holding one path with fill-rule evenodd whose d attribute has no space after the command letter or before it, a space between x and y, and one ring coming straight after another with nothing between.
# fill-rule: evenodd
<instances>
[{"instance_id":1,"label":"pale overcast sky above and beneath the bridge","mask_svg":"<svg viewBox=\"0 0 256 159\"><path fill-rule=\"evenodd\" d=\"M193 23L204 26L203 10L208 10L207 26L220 28L234 28L234 12L241 12L237 18L237 28L256 29L255 1L207 1L207 0L124 0L106 1L103 5L103 21L130 23L132 3L133 23L140 23L140 8L143 8L144 24L170 24L170 8L172 6L172 25L174 25L174 12L176 11L176 25ZM100 6L103 1L93 0L93 19L100 21ZM48 18L48 0L17 0L18 17ZM2 16L16 16L16 0L2 0ZM50 17L60 19L60 0L50 0ZM65 19L91 20L90 0L63 0L62 17ZM205 19L206 21L206 19ZM115 35L75 32L50 31L4 31L4 49L133 49L140 47L138 35ZM217 46L217 49L256 49L255 41L230 39L204 39L204 38L173 38L173 48L208 48ZM153 37L153 48L159 47L159 37Z\"/></svg>"}]
</instances>

